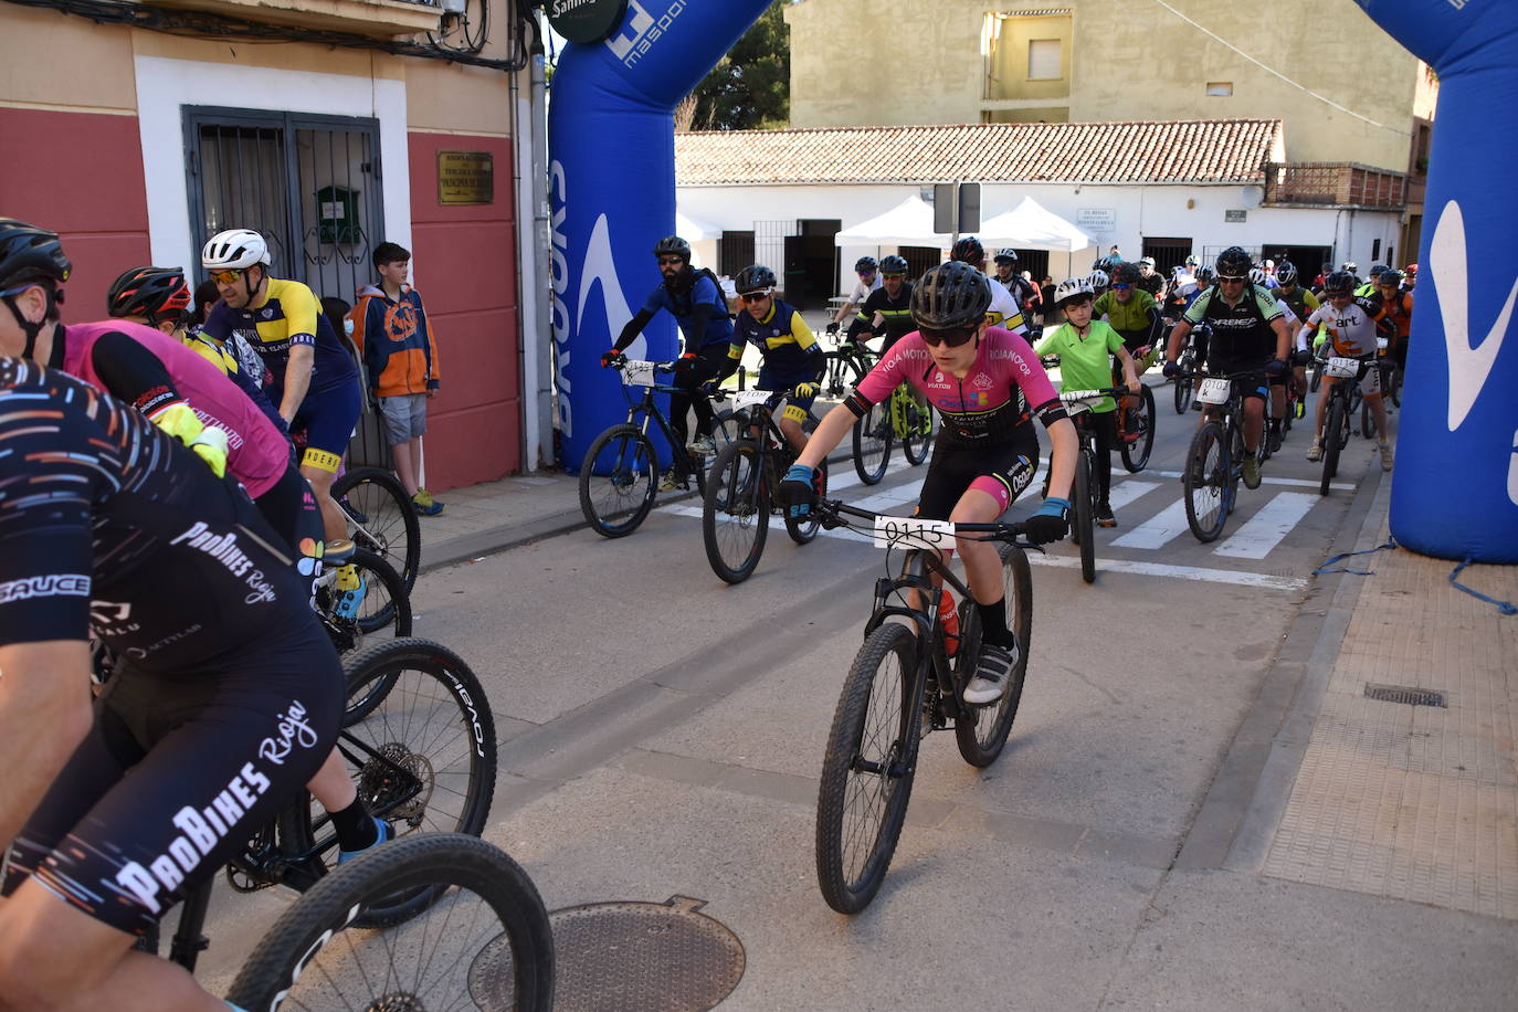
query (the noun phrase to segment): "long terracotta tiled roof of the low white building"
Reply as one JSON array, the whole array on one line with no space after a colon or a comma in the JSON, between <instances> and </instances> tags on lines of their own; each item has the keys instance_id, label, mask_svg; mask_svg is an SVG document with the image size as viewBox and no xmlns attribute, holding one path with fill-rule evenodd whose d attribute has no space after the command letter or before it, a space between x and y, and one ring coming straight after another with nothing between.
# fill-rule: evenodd
<instances>
[{"instance_id":1,"label":"long terracotta tiled roof of the low white building","mask_svg":"<svg viewBox=\"0 0 1518 1012\"><path fill-rule=\"evenodd\" d=\"M839 182L1260 184L1280 120L968 123L676 134L682 187Z\"/></svg>"}]
</instances>

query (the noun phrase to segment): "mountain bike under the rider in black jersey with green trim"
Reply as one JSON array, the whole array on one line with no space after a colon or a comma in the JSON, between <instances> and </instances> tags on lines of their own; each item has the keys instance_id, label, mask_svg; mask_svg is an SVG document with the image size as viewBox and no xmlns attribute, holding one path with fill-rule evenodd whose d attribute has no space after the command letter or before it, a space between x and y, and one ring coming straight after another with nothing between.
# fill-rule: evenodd
<instances>
[{"instance_id":1,"label":"mountain bike under the rider in black jersey with green trim","mask_svg":"<svg viewBox=\"0 0 1518 1012\"><path fill-rule=\"evenodd\" d=\"M1243 461L1249 451L1243 443L1243 387L1248 381L1260 381L1258 372L1239 372L1227 376L1193 375L1196 401L1207 413L1207 420L1186 454L1183 486L1186 489L1186 523L1196 540L1217 540L1224 523L1239 498L1239 481L1243 476ZM1261 460L1266 446L1264 432L1255 460Z\"/></svg>"}]
</instances>

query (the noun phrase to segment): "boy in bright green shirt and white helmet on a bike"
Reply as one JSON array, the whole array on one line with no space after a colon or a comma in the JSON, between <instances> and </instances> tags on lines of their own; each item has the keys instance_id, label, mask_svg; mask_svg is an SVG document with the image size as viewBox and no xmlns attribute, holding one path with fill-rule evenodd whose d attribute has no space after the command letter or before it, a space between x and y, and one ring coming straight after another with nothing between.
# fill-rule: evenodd
<instances>
[{"instance_id":1,"label":"boy in bright green shirt and white helmet on a bike","mask_svg":"<svg viewBox=\"0 0 1518 1012\"><path fill-rule=\"evenodd\" d=\"M1148 294L1148 293L1145 293ZM1132 355L1123 347L1122 335L1102 320L1091 320L1096 291L1085 278L1067 278L1055 288L1055 306L1064 323L1044 331L1038 343L1040 355L1060 357L1060 391L1104 390L1113 385L1111 355L1123 367L1128 390L1138 393L1138 373ZM1096 523L1117 526L1108 495L1113 487L1113 449L1117 446L1116 404L1102 398L1091 407L1088 425L1096 434Z\"/></svg>"}]
</instances>

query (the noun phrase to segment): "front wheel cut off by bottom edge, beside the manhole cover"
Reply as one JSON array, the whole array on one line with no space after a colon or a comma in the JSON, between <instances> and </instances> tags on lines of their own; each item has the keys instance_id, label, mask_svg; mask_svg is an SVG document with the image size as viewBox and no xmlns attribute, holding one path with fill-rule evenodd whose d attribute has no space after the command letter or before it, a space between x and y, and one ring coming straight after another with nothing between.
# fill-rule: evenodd
<instances>
[{"instance_id":1,"label":"front wheel cut off by bottom edge, beside the manhole cover","mask_svg":"<svg viewBox=\"0 0 1518 1012\"><path fill-rule=\"evenodd\" d=\"M396 891L437 894L436 909L390 932L355 930ZM454 916L466 907L474 916ZM463 954L439 959L442 951ZM301 897L243 963L226 998L250 1012L550 1012L553 929L533 880L504 851L472 836L414 836L343 865Z\"/></svg>"}]
</instances>

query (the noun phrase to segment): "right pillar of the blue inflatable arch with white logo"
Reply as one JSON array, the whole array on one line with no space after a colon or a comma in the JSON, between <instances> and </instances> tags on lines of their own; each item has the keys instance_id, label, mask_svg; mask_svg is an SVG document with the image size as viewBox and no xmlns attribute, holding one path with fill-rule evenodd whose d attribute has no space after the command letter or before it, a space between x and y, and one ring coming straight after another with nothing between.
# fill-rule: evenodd
<instances>
[{"instance_id":1,"label":"right pillar of the blue inflatable arch with white logo","mask_svg":"<svg viewBox=\"0 0 1518 1012\"><path fill-rule=\"evenodd\" d=\"M1439 74L1392 534L1518 563L1518 3L1356 2Z\"/></svg>"}]
</instances>

